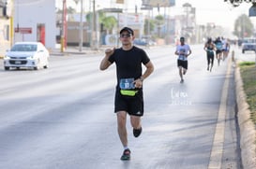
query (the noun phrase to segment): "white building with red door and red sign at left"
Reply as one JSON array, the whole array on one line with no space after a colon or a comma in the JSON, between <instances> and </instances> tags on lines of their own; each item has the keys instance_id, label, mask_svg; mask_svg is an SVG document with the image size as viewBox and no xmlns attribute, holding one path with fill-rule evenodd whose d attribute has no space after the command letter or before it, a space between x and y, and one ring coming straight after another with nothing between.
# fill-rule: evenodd
<instances>
[{"instance_id":1,"label":"white building with red door and red sign at left","mask_svg":"<svg viewBox=\"0 0 256 169\"><path fill-rule=\"evenodd\" d=\"M14 42L40 41L55 48L56 21L54 0L14 0Z\"/></svg>"}]
</instances>

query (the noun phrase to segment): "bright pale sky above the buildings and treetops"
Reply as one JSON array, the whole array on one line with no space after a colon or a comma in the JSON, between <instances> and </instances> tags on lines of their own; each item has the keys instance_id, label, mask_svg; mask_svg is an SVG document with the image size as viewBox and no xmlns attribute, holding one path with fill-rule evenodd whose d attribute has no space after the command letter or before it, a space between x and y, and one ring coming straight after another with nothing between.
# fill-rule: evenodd
<instances>
[{"instance_id":1,"label":"bright pale sky above the buildings and treetops","mask_svg":"<svg viewBox=\"0 0 256 169\"><path fill-rule=\"evenodd\" d=\"M81 2L81 0L78 0ZM93 0L83 0L83 8L85 11L92 9ZM104 7L123 7L130 12L134 12L135 5L138 6L138 12L146 12L140 10L142 0L125 0L125 5L116 5L116 0L95 0L96 9ZM196 22L197 24L206 25L207 22L215 22L216 25L223 26L233 31L234 21L242 14L248 15L248 8L252 5L250 3L243 3L239 7L233 7L231 4L224 2L224 0L176 0L175 7L170 7L168 10L171 16L178 15L184 12L182 5L189 3L192 7L196 7ZM62 0L56 0L56 5L61 6ZM73 0L67 0L67 5L80 10L80 3L78 6ZM158 14L157 8L155 8ZM164 9L160 9L160 13L164 13ZM250 17L253 24L256 24L255 17Z\"/></svg>"}]
</instances>

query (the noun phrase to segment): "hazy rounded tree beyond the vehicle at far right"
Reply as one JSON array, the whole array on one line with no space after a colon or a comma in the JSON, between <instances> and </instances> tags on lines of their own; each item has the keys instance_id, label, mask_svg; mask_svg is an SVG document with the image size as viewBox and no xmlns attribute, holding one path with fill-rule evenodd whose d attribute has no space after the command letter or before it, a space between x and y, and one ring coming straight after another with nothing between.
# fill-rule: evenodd
<instances>
[{"instance_id":1,"label":"hazy rounded tree beyond the vehicle at far right","mask_svg":"<svg viewBox=\"0 0 256 169\"><path fill-rule=\"evenodd\" d=\"M233 35L239 38L253 35L253 24L246 14L240 15L234 22Z\"/></svg>"}]
</instances>

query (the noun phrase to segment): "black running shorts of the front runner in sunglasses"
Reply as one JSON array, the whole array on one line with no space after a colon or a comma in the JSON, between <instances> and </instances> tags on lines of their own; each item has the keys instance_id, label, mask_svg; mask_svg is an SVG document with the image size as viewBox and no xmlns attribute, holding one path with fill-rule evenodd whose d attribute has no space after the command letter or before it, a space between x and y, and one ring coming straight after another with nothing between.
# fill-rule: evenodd
<instances>
[{"instance_id":1,"label":"black running shorts of the front runner in sunglasses","mask_svg":"<svg viewBox=\"0 0 256 169\"><path fill-rule=\"evenodd\" d=\"M114 112L126 111L129 115L143 116L143 90L135 96L124 96L117 89L114 97Z\"/></svg>"}]
</instances>

